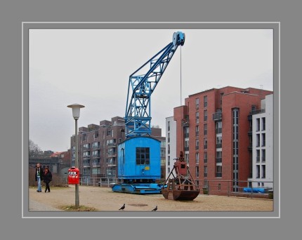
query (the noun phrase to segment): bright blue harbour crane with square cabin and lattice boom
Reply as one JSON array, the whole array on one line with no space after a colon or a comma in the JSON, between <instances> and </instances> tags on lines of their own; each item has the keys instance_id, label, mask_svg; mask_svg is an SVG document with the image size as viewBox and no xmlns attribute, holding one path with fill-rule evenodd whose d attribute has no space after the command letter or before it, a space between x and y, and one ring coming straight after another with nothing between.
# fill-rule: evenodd
<instances>
[{"instance_id":1,"label":"bright blue harbour crane with square cabin and lattice boom","mask_svg":"<svg viewBox=\"0 0 302 240\"><path fill-rule=\"evenodd\" d=\"M160 141L151 134L151 95L178 46L185 43L183 32L174 32L173 41L129 76L125 114L126 140L118 145L119 183L114 192L154 194L162 191Z\"/></svg>"}]
</instances>

